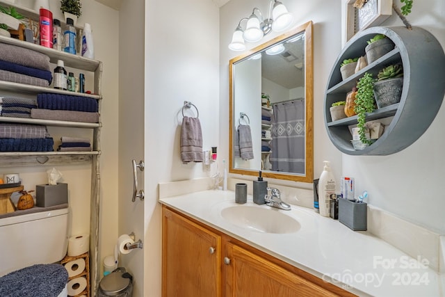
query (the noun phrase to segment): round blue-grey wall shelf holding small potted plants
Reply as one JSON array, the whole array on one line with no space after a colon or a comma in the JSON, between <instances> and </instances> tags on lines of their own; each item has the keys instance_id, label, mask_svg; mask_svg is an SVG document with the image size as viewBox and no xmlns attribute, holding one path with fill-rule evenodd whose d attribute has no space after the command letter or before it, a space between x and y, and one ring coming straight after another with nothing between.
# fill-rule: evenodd
<instances>
[{"instance_id":1,"label":"round blue-grey wall shelf holding small potted plants","mask_svg":"<svg viewBox=\"0 0 445 297\"><path fill-rule=\"evenodd\" d=\"M341 62L365 56L366 41L376 34L386 35L395 48L342 81ZM366 114L366 121L385 120L389 124L375 143L364 150L354 150L348 126L357 124L357 115L332 121L329 108L333 102L345 100L346 94L366 72L377 77L383 67L394 63L403 65L401 101ZM330 140L341 152L350 155L394 154L410 146L428 129L439 111L445 94L444 67L445 55L440 43L419 27L408 30L404 26L377 26L357 33L339 54L327 81L324 118Z\"/></svg>"}]
</instances>

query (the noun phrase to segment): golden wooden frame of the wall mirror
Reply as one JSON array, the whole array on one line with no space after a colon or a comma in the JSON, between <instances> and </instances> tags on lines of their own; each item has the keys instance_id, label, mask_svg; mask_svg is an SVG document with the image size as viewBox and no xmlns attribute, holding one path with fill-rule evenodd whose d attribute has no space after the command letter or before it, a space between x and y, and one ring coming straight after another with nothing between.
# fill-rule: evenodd
<instances>
[{"instance_id":1,"label":"golden wooden frame of the wall mirror","mask_svg":"<svg viewBox=\"0 0 445 297\"><path fill-rule=\"evenodd\" d=\"M259 53L264 49L271 47L277 43L282 42L298 33L305 33L305 125L306 125L306 145L305 145L305 175L297 175L289 172L276 172L276 171L263 171L263 177L270 177L275 179L286 179L295 182L314 182L314 63L313 63L313 42L312 42L312 21L309 21L296 29L286 32L263 45L259 45L245 54L232 58L229 61L229 172L240 175L258 175L258 170L246 170L234 168L234 149L233 149L233 137L234 137L234 76L233 67L238 61L241 61L249 56Z\"/></svg>"}]
</instances>

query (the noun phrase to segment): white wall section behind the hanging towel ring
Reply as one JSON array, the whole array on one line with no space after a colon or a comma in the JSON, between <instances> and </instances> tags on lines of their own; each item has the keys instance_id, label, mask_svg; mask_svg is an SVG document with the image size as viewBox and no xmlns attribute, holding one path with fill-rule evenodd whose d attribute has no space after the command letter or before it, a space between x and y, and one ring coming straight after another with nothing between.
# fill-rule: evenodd
<instances>
[{"instance_id":1,"label":"white wall section behind the hanging towel ring","mask_svg":"<svg viewBox=\"0 0 445 297\"><path fill-rule=\"evenodd\" d=\"M200 111L204 150L219 145L218 22L218 7L209 0L145 1L144 296L161 296L157 184L211 174L204 172L201 163L181 162L184 100ZM185 114L190 112L195 114L194 109ZM218 156L219 152L220 147Z\"/></svg>"}]
</instances>

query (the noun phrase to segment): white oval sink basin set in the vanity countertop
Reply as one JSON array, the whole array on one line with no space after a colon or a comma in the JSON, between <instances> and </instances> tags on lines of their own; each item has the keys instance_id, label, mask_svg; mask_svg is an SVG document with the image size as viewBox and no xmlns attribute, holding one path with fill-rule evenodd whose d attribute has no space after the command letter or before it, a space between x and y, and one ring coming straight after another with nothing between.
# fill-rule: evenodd
<instances>
[{"instance_id":1,"label":"white oval sink basin set in the vanity countertop","mask_svg":"<svg viewBox=\"0 0 445 297\"><path fill-rule=\"evenodd\" d=\"M284 214L279 209L270 209L249 205L236 205L221 210L221 216L238 227L263 233L293 233L300 230L300 223L295 218Z\"/></svg>"}]
</instances>

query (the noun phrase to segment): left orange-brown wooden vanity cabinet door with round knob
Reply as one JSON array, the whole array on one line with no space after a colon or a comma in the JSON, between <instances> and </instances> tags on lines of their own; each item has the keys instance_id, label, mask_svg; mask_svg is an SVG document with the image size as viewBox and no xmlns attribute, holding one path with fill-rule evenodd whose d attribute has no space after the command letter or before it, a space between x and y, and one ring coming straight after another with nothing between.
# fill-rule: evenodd
<instances>
[{"instance_id":1,"label":"left orange-brown wooden vanity cabinet door with round knob","mask_svg":"<svg viewBox=\"0 0 445 297\"><path fill-rule=\"evenodd\" d=\"M220 249L220 236L163 207L163 296L220 296Z\"/></svg>"}]
</instances>

